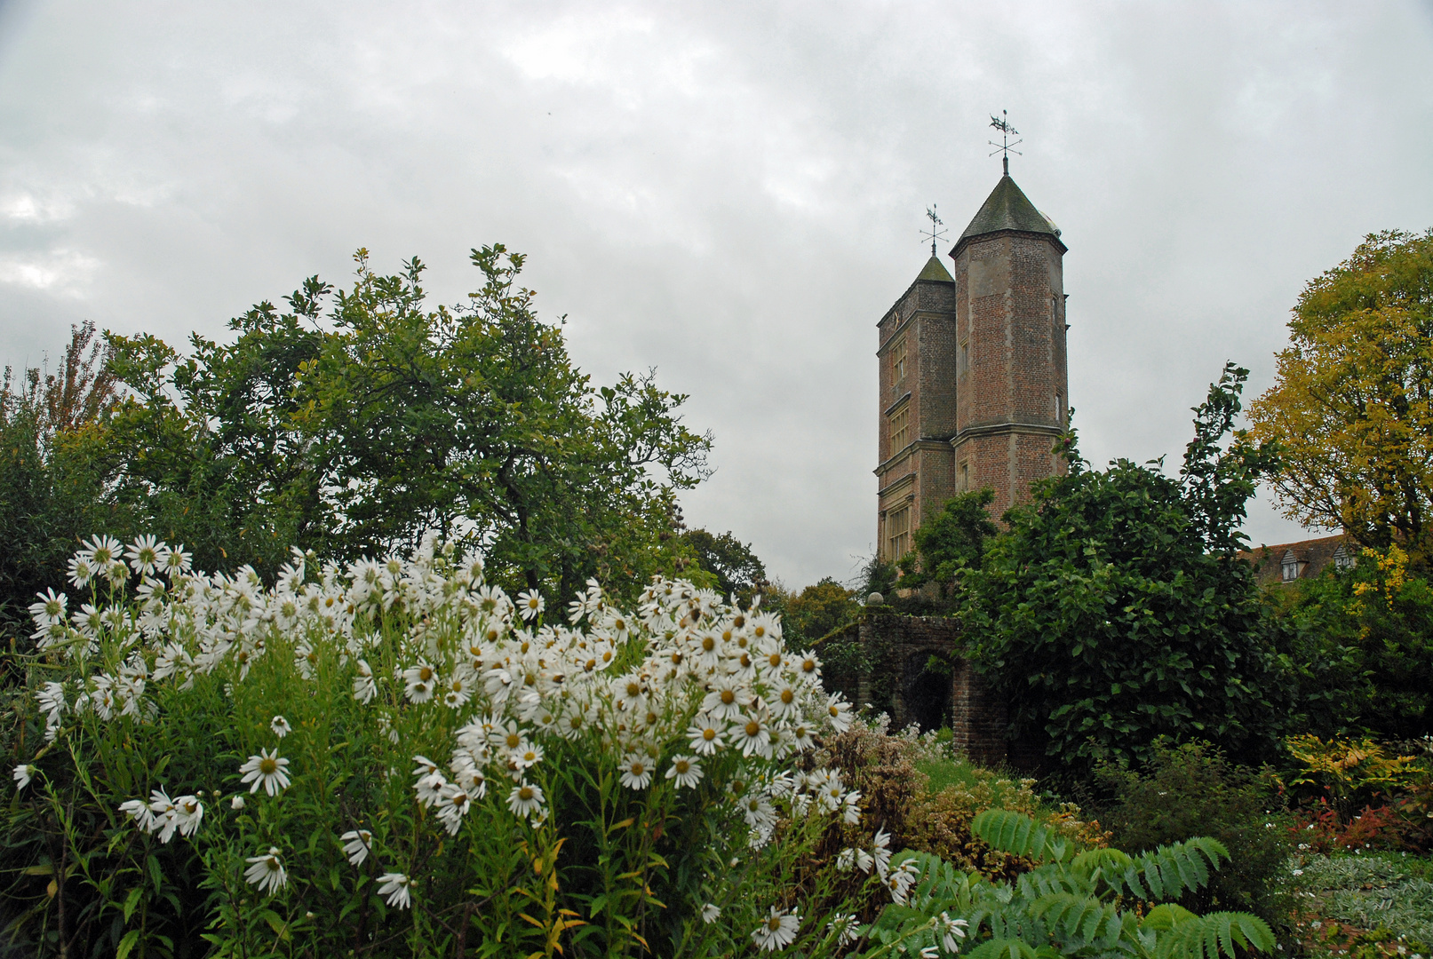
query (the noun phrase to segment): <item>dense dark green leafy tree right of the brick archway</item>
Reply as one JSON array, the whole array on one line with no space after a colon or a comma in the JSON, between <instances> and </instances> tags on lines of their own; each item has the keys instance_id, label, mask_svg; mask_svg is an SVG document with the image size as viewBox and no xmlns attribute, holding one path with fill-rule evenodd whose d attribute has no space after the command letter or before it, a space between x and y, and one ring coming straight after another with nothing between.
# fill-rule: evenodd
<instances>
[{"instance_id":1,"label":"dense dark green leafy tree right of the brick archway","mask_svg":"<svg viewBox=\"0 0 1433 959\"><path fill-rule=\"evenodd\" d=\"M1178 480L1159 461L1068 475L1006 512L964 575L973 656L1012 697L1013 727L1068 769L1144 759L1156 736L1271 746L1281 677L1252 570L1235 552L1267 448L1225 438L1247 371L1195 408Z\"/></svg>"}]
</instances>

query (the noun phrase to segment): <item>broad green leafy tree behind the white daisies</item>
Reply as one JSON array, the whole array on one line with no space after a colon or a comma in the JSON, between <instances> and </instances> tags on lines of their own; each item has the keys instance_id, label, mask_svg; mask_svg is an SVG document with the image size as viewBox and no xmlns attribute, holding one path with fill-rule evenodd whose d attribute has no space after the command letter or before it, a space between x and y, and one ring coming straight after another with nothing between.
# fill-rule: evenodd
<instances>
[{"instance_id":1,"label":"broad green leafy tree behind the white daisies","mask_svg":"<svg viewBox=\"0 0 1433 959\"><path fill-rule=\"evenodd\" d=\"M116 500L215 568L271 574L282 544L334 558L427 530L481 545L490 578L570 595L695 558L672 537L676 491L711 438L649 371L593 386L519 285L523 256L473 250L483 285L428 309L423 263L351 289L317 276L281 312L231 322L232 345L113 336L128 388L107 424Z\"/></svg>"}]
</instances>

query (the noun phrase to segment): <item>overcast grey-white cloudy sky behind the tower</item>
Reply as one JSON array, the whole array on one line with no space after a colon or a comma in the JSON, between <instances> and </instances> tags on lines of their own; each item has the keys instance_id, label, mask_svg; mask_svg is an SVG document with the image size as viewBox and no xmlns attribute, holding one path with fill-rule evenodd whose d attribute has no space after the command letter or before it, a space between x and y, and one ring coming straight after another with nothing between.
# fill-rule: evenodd
<instances>
[{"instance_id":1,"label":"overcast grey-white cloudy sky behind the tower","mask_svg":"<svg viewBox=\"0 0 1433 959\"><path fill-rule=\"evenodd\" d=\"M1303 283L1433 225L1433 4L0 0L0 361L221 336L350 255L530 255L596 379L716 437L692 525L800 587L874 548L876 321L1012 173L1069 245L1086 457L1178 452ZM944 252L944 249L941 250ZM1255 542L1297 538L1260 504Z\"/></svg>"}]
</instances>

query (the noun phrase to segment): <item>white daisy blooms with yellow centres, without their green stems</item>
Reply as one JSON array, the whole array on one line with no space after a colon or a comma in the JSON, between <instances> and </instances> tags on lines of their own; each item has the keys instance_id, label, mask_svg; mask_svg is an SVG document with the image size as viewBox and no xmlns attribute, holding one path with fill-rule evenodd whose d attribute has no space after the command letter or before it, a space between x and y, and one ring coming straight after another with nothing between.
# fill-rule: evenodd
<instances>
[{"instance_id":1,"label":"white daisy blooms with yellow centres, without their green stems","mask_svg":"<svg viewBox=\"0 0 1433 959\"><path fill-rule=\"evenodd\" d=\"M70 581L93 595L107 585L116 601L70 610L66 595L52 591L30 607L40 648L79 667L77 678L37 693L49 737L67 716L85 713L152 721L150 686L185 690L221 667L242 683L255 661L282 650L305 680L321 663L337 661L353 697L373 709L391 741L398 741L394 710L453 711L446 761L413 757L418 800L453 834L490 790L513 814L542 822L549 806L533 770L555 743L577 739L615 757L620 784L632 790L653 783L694 789L735 759L737 777L718 786L749 827L752 846L767 843L785 813L860 819L860 794L837 773L795 769L792 760L813 750L820 733L850 726L850 706L821 688L814 653L785 650L775 615L666 580L652 583L633 614L612 607L589 581L566 623L543 623L540 594L514 601L484 581L477 554L457 558L436 537L407 558L310 567L295 550L265 588L249 567L234 575L193 571L182 547L153 537L128 548L93 538L70 561ZM411 625L397 644L397 666L380 670L374 624L393 613ZM102 638L107 657L96 656ZM120 666L99 668L102 658ZM282 717L271 729L278 739L289 731ZM251 793L262 787L277 796L289 784L287 766L277 749L261 750L239 773ZM241 804L235 799L235 809ZM160 792L123 810L162 842L191 834L202 817L195 797L171 802ZM364 830L345 834L353 862L368 855L368 839ZM863 856L886 876L888 853ZM287 883L278 850L249 863L246 875L261 887ZM385 885L394 905L407 905L406 877L385 875ZM791 920L778 917L761 945L784 945Z\"/></svg>"}]
</instances>

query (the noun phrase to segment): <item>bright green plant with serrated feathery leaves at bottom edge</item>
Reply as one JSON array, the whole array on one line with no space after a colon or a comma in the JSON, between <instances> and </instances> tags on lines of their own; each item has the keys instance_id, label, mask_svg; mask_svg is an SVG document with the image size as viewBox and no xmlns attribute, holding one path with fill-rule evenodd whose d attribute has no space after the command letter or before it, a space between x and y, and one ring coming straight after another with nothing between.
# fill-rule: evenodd
<instances>
[{"instance_id":1,"label":"bright green plant with serrated feathery leaves at bottom edge","mask_svg":"<svg viewBox=\"0 0 1433 959\"><path fill-rule=\"evenodd\" d=\"M1274 933L1258 916L1197 916L1166 902L1205 886L1211 870L1228 860L1214 839L1189 839L1142 856L1079 852L1029 816L1002 809L980 813L972 829L1036 867L1015 883L990 883L936 856L901 853L891 867L914 863L917 879L904 902L886 906L866 929L867 959L894 952L954 955L954 946L966 946L967 959L1237 959L1240 950L1274 948ZM1151 906L1142 917L1136 903Z\"/></svg>"}]
</instances>

